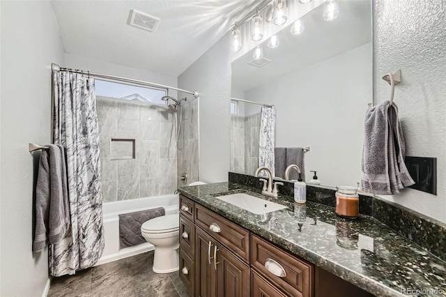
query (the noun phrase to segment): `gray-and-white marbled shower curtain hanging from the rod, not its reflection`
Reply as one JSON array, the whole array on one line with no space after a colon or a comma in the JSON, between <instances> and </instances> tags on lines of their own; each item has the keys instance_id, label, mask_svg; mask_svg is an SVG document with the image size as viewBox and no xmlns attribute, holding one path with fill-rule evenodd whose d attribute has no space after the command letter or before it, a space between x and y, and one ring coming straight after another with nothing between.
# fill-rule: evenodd
<instances>
[{"instance_id":1,"label":"gray-and-white marbled shower curtain hanging from the rod, not its reflection","mask_svg":"<svg viewBox=\"0 0 446 297\"><path fill-rule=\"evenodd\" d=\"M49 246L51 275L75 274L93 266L104 250L99 128L94 79L53 73L54 144L67 152L71 230Z\"/></svg>"}]
</instances>

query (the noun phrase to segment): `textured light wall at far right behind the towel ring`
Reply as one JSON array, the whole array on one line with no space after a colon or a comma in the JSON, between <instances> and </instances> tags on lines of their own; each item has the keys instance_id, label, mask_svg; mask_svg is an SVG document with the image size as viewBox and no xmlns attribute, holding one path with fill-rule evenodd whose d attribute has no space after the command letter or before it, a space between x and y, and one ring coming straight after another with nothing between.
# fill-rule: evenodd
<instances>
[{"instance_id":1,"label":"textured light wall at far right behind the towel ring","mask_svg":"<svg viewBox=\"0 0 446 297\"><path fill-rule=\"evenodd\" d=\"M438 195L407 189L385 197L446 222L446 1L374 3L374 104L389 100L381 77L401 69L394 102L407 155L436 157Z\"/></svg>"}]
</instances>

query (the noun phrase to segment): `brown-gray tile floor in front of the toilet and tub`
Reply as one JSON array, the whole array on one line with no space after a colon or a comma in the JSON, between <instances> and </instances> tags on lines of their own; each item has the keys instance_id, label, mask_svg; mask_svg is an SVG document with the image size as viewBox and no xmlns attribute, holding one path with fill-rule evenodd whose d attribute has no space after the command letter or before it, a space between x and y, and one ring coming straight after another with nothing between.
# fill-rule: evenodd
<instances>
[{"instance_id":1,"label":"brown-gray tile floor in front of the toilet and tub","mask_svg":"<svg viewBox=\"0 0 446 297\"><path fill-rule=\"evenodd\" d=\"M152 271L153 251L55 277L48 297L190 297L178 271Z\"/></svg>"}]
</instances>

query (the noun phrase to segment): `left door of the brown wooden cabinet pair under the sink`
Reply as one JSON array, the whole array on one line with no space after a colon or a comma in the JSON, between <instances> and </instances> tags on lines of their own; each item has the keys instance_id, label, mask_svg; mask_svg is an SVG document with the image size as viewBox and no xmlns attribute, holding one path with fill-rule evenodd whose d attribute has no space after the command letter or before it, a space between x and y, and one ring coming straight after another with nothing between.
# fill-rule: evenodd
<instances>
[{"instance_id":1,"label":"left door of the brown wooden cabinet pair under the sink","mask_svg":"<svg viewBox=\"0 0 446 297\"><path fill-rule=\"evenodd\" d=\"M213 264L213 250L215 241L213 241L201 229L196 227L195 238L197 245L195 247L195 280L197 297L215 296L215 269Z\"/></svg>"}]
</instances>

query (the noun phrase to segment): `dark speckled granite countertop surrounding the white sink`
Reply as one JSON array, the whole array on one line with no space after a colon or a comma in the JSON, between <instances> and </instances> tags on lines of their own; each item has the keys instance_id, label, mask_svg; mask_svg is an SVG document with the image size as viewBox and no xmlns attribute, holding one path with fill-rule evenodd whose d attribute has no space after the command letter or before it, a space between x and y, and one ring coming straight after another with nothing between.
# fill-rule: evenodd
<instances>
[{"instance_id":1,"label":"dark speckled granite countertop surrounding the white sink","mask_svg":"<svg viewBox=\"0 0 446 297\"><path fill-rule=\"evenodd\" d=\"M268 197L237 183L181 187L178 192L376 296L446 296L446 262L375 218L345 220L331 206L307 201L302 209L286 201L289 197ZM233 192L289 207L255 215L215 198Z\"/></svg>"}]
</instances>

